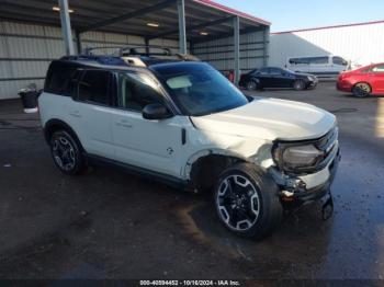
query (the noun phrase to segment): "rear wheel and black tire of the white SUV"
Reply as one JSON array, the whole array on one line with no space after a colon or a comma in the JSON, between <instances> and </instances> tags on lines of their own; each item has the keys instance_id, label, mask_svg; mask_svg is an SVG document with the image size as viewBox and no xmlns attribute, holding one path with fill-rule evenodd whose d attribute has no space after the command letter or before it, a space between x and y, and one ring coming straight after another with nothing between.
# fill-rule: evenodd
<instances>
[{"instance_id":1,"label":"rear wheel and black tire of the white SUV","mask_svg":"<svg viewBox=\"0 0 384 287\"><path fill-rule=\"evenodd\" d=\"M67 175L80 174L86 167L81 146L65 129L56 130L50 136L50 152L55 165Z\"/></svg>"}]
</instances>

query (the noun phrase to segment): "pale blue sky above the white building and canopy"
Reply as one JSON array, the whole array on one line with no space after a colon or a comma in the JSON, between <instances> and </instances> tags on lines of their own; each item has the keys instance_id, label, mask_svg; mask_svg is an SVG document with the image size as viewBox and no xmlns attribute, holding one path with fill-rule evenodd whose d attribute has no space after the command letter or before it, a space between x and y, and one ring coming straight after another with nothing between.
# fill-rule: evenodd
<instances>
[{"instance_id":1,"label":"pale blue sky above the white building and canopy","mask_svg":"<svg viewBox=\"0 0 384 287\"><path fill-rule=\"evenodd\" d=\"M384 20L384 0L214 0L272 22L271 32Z\"/></svg>"}]
</instances>

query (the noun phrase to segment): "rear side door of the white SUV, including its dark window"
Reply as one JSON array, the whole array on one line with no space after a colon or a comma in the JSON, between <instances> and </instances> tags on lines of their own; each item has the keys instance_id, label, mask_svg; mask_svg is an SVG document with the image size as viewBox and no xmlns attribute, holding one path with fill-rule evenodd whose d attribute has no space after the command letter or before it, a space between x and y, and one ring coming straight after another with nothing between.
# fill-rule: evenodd
<instances>
[{"instance_id":1,"label":"rear side door of the white SUV, including its dark window","mask_svg":"<svg viewBox=\"0 0 384 287\"><path fill-rule=\"evenodd\" d=\"M113 73L105 70L82 70L80 73L69 84L74 99L67 111L69 124L88 153L113 159Z\"/></svg>"}]
</instances>

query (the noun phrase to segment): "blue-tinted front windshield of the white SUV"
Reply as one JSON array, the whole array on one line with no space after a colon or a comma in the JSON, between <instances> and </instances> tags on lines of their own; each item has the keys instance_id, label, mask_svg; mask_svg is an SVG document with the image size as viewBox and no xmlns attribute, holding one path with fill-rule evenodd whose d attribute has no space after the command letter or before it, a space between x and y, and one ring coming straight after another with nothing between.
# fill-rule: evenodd
<instances>
[{"instance_id":1,"label":"blue-tinted front windshield of the white SUV","mask_svg":"<svg viewBox=\"0 0 384 287\"><path fill-rule=\"evenodd\" d=\"M187 115L207 115L248 103L233 83L206 64L185 62L156 70L176 104Z\"/></svg>"}]
</instances>

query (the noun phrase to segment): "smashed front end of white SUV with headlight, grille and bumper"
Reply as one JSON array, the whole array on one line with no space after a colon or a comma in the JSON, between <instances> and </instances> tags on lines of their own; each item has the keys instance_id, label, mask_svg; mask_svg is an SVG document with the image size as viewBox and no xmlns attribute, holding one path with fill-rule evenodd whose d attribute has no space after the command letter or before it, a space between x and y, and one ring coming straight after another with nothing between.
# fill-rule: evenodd
<instances>
[{"instance_id":1,"label":"smashed front end of white SUV with headlight, grille and bumper","mask_svg":"<svg viewBox=\"0 0 384 287\"><path fill-rule=\"evenodd\" d=\"M297 206L328 196L326 205L331 205L330 185L341 158L337 127L319 139L278 141L272 153L275 165L268 171L283 203Z\"/></svg>"}]
</instances>

